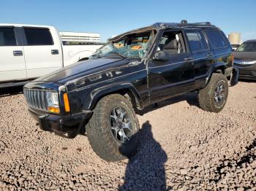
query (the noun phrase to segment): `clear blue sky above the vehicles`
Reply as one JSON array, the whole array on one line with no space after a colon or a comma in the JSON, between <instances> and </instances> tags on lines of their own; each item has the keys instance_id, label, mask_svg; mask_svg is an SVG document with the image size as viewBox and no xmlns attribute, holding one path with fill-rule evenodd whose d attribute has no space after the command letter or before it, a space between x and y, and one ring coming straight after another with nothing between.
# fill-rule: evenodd
<instances>
[{"instance_id":1,"label":"clear blue sky above the vehicles","mask_svg":"<svg viewBox=\"0 0 256 191\"><path fill-rule=\"evenodd\" d=\"M1 0L0 23L50 25L95 32L100 41L156 22L209 21L225 32L256 39L256 0Z\"/></svg>"}]
</instances>

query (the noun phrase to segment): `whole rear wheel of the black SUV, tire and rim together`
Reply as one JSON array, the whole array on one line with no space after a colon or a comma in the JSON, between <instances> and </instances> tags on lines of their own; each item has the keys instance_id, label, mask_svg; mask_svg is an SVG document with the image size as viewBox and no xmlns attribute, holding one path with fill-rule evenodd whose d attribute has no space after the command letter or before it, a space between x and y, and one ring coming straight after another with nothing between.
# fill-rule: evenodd
<instances>
[{"instance_id":1,"label":"whole rear wheel of the black SUV, tire and rim together","mask_svg":"<svg viewBox=\"0 0 256 191\"><path fill-rule=\"evenodd\" d=\"M207 112L220 112L227 102L228 82L223 74L212 74L210 82L199 90L199 105Z\"/></svg>"}]
</instances>

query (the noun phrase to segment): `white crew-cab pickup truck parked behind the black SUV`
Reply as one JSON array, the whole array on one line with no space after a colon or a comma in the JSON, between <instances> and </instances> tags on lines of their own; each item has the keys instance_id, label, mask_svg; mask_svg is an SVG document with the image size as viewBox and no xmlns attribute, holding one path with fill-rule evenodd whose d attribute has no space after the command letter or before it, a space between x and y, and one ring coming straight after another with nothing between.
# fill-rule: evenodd
<instances>
[{"instance_id":1,"label":"white crew-cab pickup truck parked behind the black SUV","mask_svg":"<svg viewBox=\"0 0 256 191\"><path fill-rule=\"evenodd\" d=\"M102 44L63 45L53 26L0 23L0 87L24 85L78 61Z\"/></svg>"}]
</instances>

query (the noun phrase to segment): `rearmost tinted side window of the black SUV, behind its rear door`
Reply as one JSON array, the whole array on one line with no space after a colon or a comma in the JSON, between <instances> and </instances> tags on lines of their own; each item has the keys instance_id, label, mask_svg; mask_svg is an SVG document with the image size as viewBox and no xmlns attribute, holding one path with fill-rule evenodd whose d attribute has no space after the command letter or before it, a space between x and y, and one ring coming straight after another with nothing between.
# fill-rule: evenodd
<instances>
[{"instance_id":1,"label":"rearmost tinted side window of the black SUV, behind its rear door","mask_svg":"<svg viewBox=\"0 0 256 191\"><path fill-rule=\"evenodd\" d=\"M212 47L214 48L227 47L227 42L220 31L211 30L211 31L205 31L205 33L209 41L211 42Z\"/></svg>"}]
</instances>

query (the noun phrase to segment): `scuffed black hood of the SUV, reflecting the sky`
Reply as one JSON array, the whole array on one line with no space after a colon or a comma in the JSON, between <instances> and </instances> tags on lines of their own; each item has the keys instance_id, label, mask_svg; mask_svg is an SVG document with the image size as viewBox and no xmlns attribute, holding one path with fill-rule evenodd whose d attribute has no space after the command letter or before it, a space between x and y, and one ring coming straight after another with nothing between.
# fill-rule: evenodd
<instances>
[{"instance_id":1,"label":"scuffed black hood of the SUV, reflecting the sky","mask_svg":"<svg viewBox=\"0 0 256 191\"><path fill-rule=\"evenodd\" d=\"M37 82L57 82L64 84L69 80L82 77L89 74L94 74L98 71L104 71L114 66L129 63L129 58L98 58L87 61L81 61L72 65L66 66L63 69L53 71L52 73L39 77L34 81Z\"/></svg>"}]
</instances>

